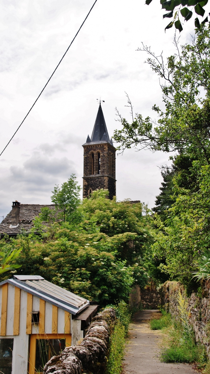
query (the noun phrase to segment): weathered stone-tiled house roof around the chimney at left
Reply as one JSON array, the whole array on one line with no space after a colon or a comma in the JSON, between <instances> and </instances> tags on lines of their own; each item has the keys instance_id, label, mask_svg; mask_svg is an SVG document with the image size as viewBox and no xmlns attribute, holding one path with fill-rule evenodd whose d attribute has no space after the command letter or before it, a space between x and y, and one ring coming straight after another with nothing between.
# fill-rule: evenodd
<instances>
[{"instance_id":1,"label":"weathered stone-tiled house roof around the chimney at left","mask_svg":"<svg viewBox=\"0 0 210 374\"><path fill-rule=\"evenodd\" d=\"M7 214L3 221L0 223L0 237L3 234L7 234L9 236L16 236L20 234L22 230L29 233L31 228L33 227L33 219L41 213L41 208L47 206L50 209L55 209L54 204L50 205L39 205L39 204L20 204L20 215L19 215L19 224L18 227L12 227L11 220L12 220L12 210ZM47 226L47 223L43 223Z\"/></svg>"}]
</instances>

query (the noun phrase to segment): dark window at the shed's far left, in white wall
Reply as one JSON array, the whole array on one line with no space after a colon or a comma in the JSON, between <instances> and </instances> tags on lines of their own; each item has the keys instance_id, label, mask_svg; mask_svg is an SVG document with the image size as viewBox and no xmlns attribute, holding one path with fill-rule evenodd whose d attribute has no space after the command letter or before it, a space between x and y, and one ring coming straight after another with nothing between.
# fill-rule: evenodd
<instances>
[{"instance_id":1,"label":"dark window at the shed's far left, in white wall","mask_svg":"<svg viewBox=\"0 0 210 374\"><path fill-rule=\"evenodd\" d=\"M12 373L13 339L0 339L0 373Z\"/></svg>"}]
</instances>

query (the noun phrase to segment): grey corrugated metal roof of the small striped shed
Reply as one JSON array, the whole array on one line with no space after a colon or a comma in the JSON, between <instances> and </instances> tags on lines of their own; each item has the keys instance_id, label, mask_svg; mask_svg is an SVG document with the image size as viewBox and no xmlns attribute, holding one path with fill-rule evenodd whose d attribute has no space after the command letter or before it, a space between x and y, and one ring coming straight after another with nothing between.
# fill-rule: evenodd
<instances>
[{"instance_id":1,"label":"grey corrugated metal roof of the small striped shed","mask_svg":"<svg viewBox=\"0 0 210 374\"><path fill-rule=\"evenodd\" d=\"M67 310L67 312L73 315L80 313L83 309L90 305L89 301L85 298L75 295L62 287L46 281L45 279L25 281L20 281L19 279L7 279L6 281L1 282L0 286L4 283L10 283L16 287L19 287L24 291L47 301L50 304Z\"/></svg>"}]
</instances>

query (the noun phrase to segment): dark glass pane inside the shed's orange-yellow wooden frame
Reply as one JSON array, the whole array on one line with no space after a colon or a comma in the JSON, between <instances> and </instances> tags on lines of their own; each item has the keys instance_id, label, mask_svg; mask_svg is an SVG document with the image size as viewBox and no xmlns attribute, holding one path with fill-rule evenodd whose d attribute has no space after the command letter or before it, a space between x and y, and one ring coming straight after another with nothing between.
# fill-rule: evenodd
<instances>
[{"instance_id":1,"label":"dark glass pane inside the shed's orange-yellow wooden frame","mask_svg":"<svg viewBox=\"0 0 210 374\"><path fill-rule=\"evenodd\" d=\"M59 355L64 348L65 339L36 339L35 371L42 373L50 358Z\"/></svg>"}]
</instances>

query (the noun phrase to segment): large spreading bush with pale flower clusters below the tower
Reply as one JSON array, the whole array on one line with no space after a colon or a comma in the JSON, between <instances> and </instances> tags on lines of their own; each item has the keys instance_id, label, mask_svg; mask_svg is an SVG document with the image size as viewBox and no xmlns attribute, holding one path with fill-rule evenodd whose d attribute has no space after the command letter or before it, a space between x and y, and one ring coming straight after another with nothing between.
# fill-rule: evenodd
<instances>
[{"instance_id":1,"label":"large spreading bush with pale flower clusters below the tower","mask_svg":"<svg viewBox=\"0 0 210 374\"><path fill-rule=\"evenodd\" d=\"M127 301L134 284L144 287L153 242L151 217L142 215L141 203L118 203L107 193L93 191L83 200L76 209L80 222L49 221L43 234L22 234L4 243L22 248L15 260L21 273L41 275L101 306ZM42 214L35 220L38 227L41 220Z\"/></svg>"}]
</instances>

